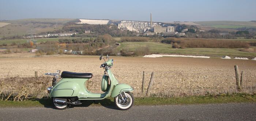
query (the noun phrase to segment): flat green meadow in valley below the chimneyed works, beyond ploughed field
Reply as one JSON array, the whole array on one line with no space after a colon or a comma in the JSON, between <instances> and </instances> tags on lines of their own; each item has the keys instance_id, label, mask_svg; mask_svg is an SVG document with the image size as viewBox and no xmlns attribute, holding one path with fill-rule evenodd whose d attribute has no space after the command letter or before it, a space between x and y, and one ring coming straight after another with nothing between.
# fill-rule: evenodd
<instances>
[{"instance_id":1,"label":"flat green meadow in valley below the chimneyed works, beyond ploughed field","mask_svg":"<svg viewBox=\"0 0 256 121\"><path fill-rule=\"evenodd\" d=\"M189 55L207 55L207 56L240 56L240 57L255 57L256 53L239 51L241 48L185 48L174 49L170 44L158 42L122 42L117 47L118 50L128 48L133 51L143 46L149 46L150 53L174 53L174 54L189 54Z\"/></svg>"}]
</instances>

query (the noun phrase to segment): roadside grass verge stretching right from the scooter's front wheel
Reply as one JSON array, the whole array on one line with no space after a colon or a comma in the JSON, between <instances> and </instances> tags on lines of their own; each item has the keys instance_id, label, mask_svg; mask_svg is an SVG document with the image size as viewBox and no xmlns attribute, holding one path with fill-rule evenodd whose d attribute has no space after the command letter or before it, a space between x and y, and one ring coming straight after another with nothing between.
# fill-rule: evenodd
<instances>
[{"instance_id":1,"label":"roadside grass verge stretching right from the scooter's front wheel","mask_svg":"<svg viewBox=\"0 0 256 121\"><path fill-rule=\"evenodd\" d=\"M256 102L255 95L249 94L221 94L208 96L191 96L176 98L136 98L136 105L188 105L210 103L240 103Z\"/></svg>"}]
</instances>

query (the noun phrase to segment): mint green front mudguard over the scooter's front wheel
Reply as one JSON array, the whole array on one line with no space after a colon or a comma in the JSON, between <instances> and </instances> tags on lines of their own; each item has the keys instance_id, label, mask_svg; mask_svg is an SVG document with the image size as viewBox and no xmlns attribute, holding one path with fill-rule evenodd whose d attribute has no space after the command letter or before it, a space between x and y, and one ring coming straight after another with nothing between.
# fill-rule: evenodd
<instances>
[{"instance_id":1,"label":"mint green front mudguard over the scooter's front wheel","mask_svg":"<svg viewBox=\"0 0 256 121\"><path fill-rule=\"evenodd\" d=\"M122 92L131 92L131 91L134 91L134 90L128 84L117 84L116 86L114 86L110 97L113 98L113 97L116 97L118 94L120 94Z\"/></svg>"}]
</instances>

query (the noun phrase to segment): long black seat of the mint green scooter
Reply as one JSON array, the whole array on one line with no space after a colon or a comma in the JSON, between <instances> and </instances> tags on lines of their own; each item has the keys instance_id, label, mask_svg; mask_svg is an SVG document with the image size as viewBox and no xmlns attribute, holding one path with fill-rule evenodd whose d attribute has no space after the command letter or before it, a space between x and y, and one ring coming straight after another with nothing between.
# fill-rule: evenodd
<instances>
[{"instance_id":1,"label":"long black seat of the mint green scooter","mask_svg":"<svg viewBox=\"0 0 256 121\"><path fill-rule=\"evenodd\" d=\"M75 73L75 72L68 72L68 71L63 71L61 73L61 78L90 79L91 77L93 77L92 73Z\"/></svg>"}]
</instances>

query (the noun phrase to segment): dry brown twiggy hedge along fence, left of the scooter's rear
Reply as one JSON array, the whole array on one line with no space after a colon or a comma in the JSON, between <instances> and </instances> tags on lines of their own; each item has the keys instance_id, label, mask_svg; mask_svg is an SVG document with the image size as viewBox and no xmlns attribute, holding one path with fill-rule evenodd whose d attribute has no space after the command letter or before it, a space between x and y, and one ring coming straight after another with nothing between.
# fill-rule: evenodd
<instances>
[{"instance_id":1,"label":"dry brown twiggy hedge along fence, left of the scooter's rear","mask_svg":"<svg viewBox=\"0 0 256 121\"><path fill-rule=\"evenodd\" d=\"M35 99L42 93L46 97L45 88L51 85L52 77L7 77L0 79L0 98L11 101Z\"/></svg>"}]
</instances>

